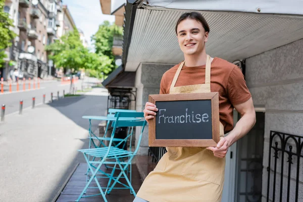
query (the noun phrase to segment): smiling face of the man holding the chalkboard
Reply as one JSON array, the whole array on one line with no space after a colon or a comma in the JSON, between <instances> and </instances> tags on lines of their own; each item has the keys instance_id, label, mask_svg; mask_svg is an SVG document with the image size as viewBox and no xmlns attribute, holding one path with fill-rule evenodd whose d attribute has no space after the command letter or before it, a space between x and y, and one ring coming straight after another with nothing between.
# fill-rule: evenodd
<instances>
[{"instance_id":1,"label":"smiling face of the man holding the chalkboard","mask_svg":"<svg viewBox=\"0 0 303 202\"><path fill-rule=\"evenodd\" d=\"M194 19L186 19L177 27L177 37L181 51L186 55L200 54L208 40L208 32L205 32L201 23Z\"/></svg>"}]
</instances>

